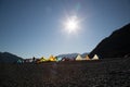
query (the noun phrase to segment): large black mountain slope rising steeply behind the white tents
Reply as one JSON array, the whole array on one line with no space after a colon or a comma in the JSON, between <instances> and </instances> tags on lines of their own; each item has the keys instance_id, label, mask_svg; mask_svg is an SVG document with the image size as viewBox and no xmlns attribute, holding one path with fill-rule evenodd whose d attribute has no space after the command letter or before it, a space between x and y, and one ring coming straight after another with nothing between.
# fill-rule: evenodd
<instances>
[{"instance_id":1,"label":"large black mountain slope rising steeply behind the white tents","mask_svg":"<svg viewBox=\"0 0 130 87\"><path fill-rule=\"evenodd\" d=\"M91 52L90 58L99 54L101 58L122 58L130 53L130 24L113 32L103 39Z\"/></svg>"}]
</instances>

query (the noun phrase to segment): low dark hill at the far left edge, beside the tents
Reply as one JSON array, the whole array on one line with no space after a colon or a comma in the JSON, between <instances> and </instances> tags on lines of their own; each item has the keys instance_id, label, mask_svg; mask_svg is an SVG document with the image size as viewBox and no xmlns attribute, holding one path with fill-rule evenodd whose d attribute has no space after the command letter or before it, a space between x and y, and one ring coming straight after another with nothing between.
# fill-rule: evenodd
<instances>
[{"instance_id":1,"label":"low dark hill at the far left edge, beside the tents","mask_svg":"<svg viewBox=\"0 0 130 87\"><path fill-rule=\"evenodd\" d=\"M23 59L9 52L0 52L0 63L15 63L17 60Z\"/></svg>"}]
</instances>

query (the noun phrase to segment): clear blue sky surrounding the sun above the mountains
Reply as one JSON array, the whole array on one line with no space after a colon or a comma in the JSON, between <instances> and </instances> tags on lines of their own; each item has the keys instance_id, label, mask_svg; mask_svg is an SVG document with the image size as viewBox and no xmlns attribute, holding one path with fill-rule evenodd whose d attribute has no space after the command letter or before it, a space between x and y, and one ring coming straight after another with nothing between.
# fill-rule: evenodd
<instances>
[{"instance_id":1,"label":"clear blue sky surrounding the sun above the mountains","mask_svg":"<svg viewBox=\"0 0 130 87\"><path fill-rule=\"evenodd\" d=\"M63 23L76 15L80 28ZM23 58L83 53L130 23L130 0L0 0L0 51Z\"/></svg>"}]
</instances>

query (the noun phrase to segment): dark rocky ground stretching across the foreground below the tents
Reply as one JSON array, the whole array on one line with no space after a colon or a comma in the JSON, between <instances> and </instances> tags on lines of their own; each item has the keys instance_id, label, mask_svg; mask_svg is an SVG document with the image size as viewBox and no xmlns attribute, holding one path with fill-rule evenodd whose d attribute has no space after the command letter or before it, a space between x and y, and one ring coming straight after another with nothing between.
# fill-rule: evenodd
<instances>
[{"instance_id":1,"label":"dark rocky ground stretching across the foreground below the tents","mask_svg":"<svg viewBox=\"0 0 130 87\"><path fill-rule=\"evenodd\" d=\"M0 64L0 87L129 87L130 58Z\"/></svg>"}]
</instances>

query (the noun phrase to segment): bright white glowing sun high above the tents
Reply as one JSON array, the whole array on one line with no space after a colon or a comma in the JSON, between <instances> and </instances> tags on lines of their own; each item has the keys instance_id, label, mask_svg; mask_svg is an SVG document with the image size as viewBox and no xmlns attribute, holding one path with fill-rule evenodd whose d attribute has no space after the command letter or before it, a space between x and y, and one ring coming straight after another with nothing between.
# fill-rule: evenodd
<instances>
[{"instance_id":1,"label":"bright white glowing sun high above the tents","mask_svg":"<svg viewBox=\"0 0 130 87\"><path fill-rule=\"evenodd\" d=\"M76 33L78 29L78 20L77 16L70 16L67 18L65 22L65 29L70 34L70 33Z\"/></svg>"}]
</instances>

